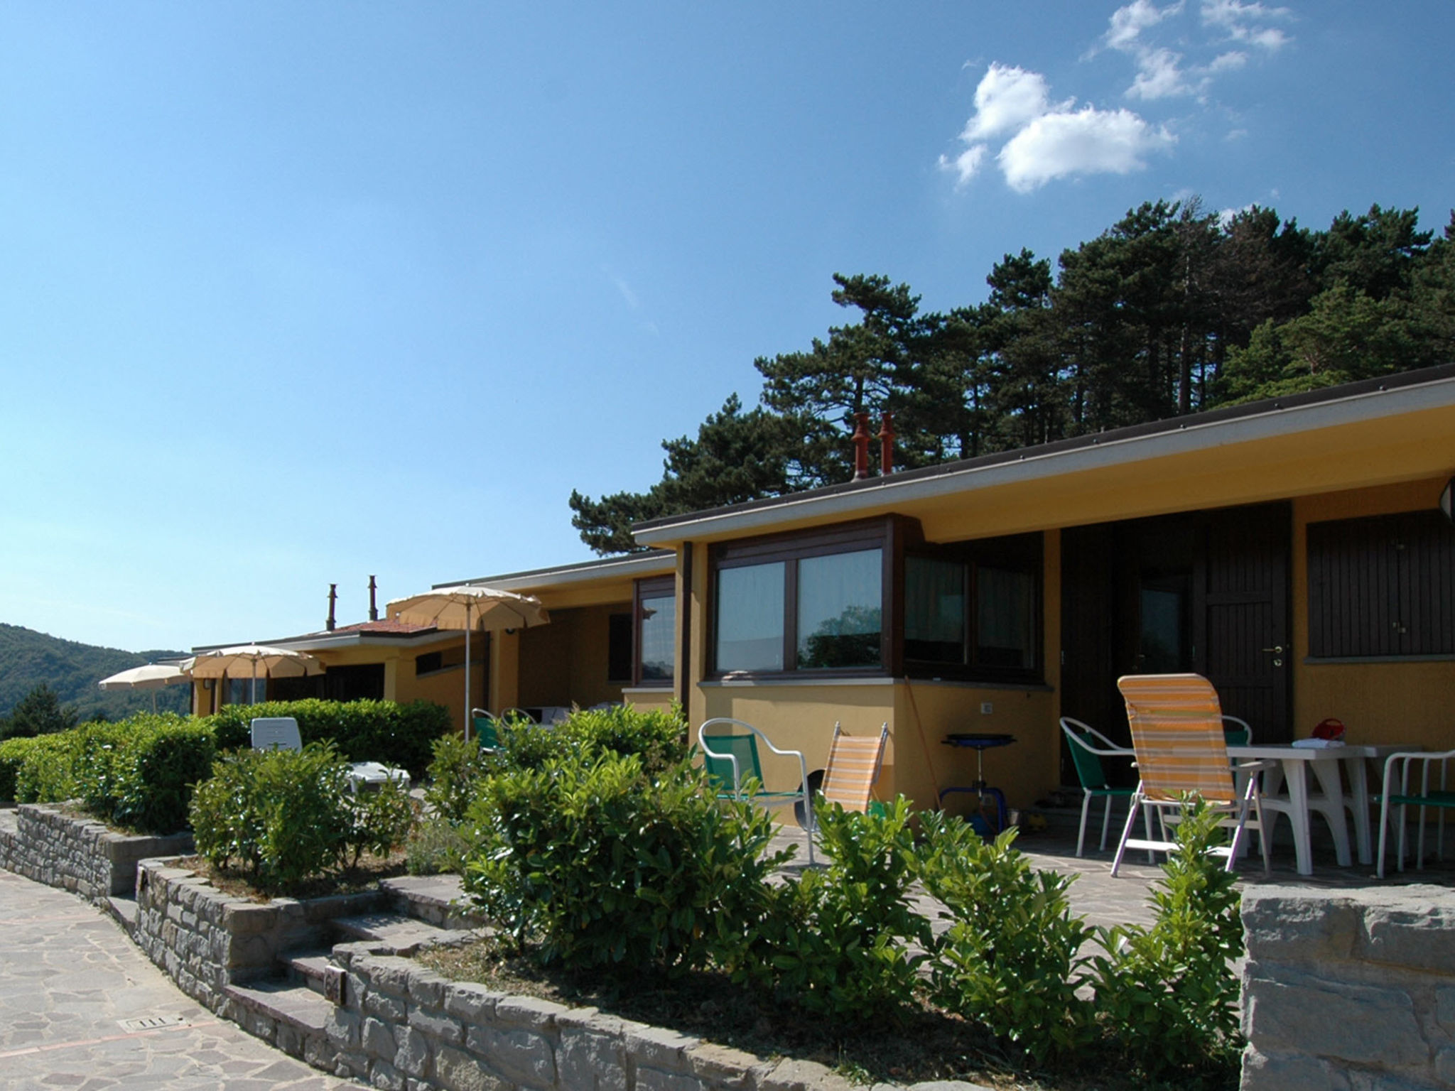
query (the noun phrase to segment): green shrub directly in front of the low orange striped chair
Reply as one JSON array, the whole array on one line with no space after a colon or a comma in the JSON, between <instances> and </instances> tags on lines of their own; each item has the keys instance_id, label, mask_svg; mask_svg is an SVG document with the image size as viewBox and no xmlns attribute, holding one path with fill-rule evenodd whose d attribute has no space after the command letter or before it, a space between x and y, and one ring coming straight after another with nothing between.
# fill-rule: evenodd
<instances>
[{"instance_id":1,"label":"green shrub directly in front of the low orange striped chair","mask_svg":"<svg viewBox=\"0 0 1455 1091\"><path fill-rule=\"evenodd\" d=\"M909 803L904 796L873 815L819 804L828 867L773 893L758 925L755 956L739 980L778 994L837 1023L899 1021L914 1001L930 922L909 902L915 877Z\"/></svg>"}]
</instances>

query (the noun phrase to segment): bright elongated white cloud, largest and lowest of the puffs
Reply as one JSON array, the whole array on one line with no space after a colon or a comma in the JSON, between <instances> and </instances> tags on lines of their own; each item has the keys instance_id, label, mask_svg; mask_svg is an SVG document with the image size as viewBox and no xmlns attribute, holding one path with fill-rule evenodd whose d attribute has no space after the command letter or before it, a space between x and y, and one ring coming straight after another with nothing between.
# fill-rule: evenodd
<instances>
[{"instance_id":1,"label":"bright elongated white cloud, largest and lowest of the puffs","mask_svg":"<svg viewBox=\"0 0 1455 1091\"><path fill-rule=\"evenodd\" d=\"M997 161L1011 189L1026 193L1071 175L1128 175L1147 166L1145 156L1177 141L1131 111L1043 113L1001 148Z\"/></svg>"}]
</instances>

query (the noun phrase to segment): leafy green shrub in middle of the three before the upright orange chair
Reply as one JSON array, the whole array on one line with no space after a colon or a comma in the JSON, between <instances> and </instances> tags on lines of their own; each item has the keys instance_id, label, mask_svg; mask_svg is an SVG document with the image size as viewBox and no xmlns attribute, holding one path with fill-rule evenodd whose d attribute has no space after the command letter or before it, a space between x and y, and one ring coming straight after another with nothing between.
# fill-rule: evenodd
<instances>
[{"instance_id":1,"label":"leafy green shrub in middle of the three before the upright orange chair","mask_svg":"<svg viewBox=\"0 0 1455 1091\"><path fill-rule=\"evenodd\" d=\"M1093 930L1071 915L1072 879L1033 871L1010 829L986 844L944 813L922 816L920 874L952 924L933 944L936 1004L985 1024L1037 1062L1094 1037L1091 1004L1077 996Z\"/></svg>"}]
</instances>

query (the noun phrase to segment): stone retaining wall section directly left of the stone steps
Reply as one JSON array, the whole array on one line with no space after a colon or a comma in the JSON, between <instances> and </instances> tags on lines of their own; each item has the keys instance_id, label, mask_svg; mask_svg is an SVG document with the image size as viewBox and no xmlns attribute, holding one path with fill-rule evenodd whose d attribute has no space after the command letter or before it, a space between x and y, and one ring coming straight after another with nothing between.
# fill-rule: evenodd
<instances>
[{"instance_id":1,"label":"stone retaining wall section directly left of the stone steps","mask_svg":"<svg viewBox=\"0 0 1455 1091\"><path fill-rule=\"evenodd\" d=\"M381 900L362 893L249 902L164 860L144 860L131 938L188 996L221 1011L227 985L276 975L281 953L324 944L330 919L374 912Z\"/></svg>"}]
</instances>

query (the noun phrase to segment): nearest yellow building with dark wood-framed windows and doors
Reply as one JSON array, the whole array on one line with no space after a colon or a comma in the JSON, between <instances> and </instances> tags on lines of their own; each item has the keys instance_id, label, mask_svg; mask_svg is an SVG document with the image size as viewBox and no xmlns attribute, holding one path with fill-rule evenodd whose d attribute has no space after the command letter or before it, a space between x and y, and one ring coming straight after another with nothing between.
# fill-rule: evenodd
<instances>
[{"instance_id":1,"label":"nearest yellow building with dark wood-framed windows and doors","mask_svg":"<svg viewBox=\"0 0 1455 1091\"><path fill-rule=\"evenodd\" d=\"M1197 671L1259 742L1337 717L1355 742L1455 746L1452 473L1442 367L634 535L675 554L694 727L746 720L812 770L835 722L888 723L876 794L918 806L975 778L946 736L1005 733L985 777L1030 806L1075 784L1061 716L1128 738L1122 674Z\"/></svg>"}]
</instances>

